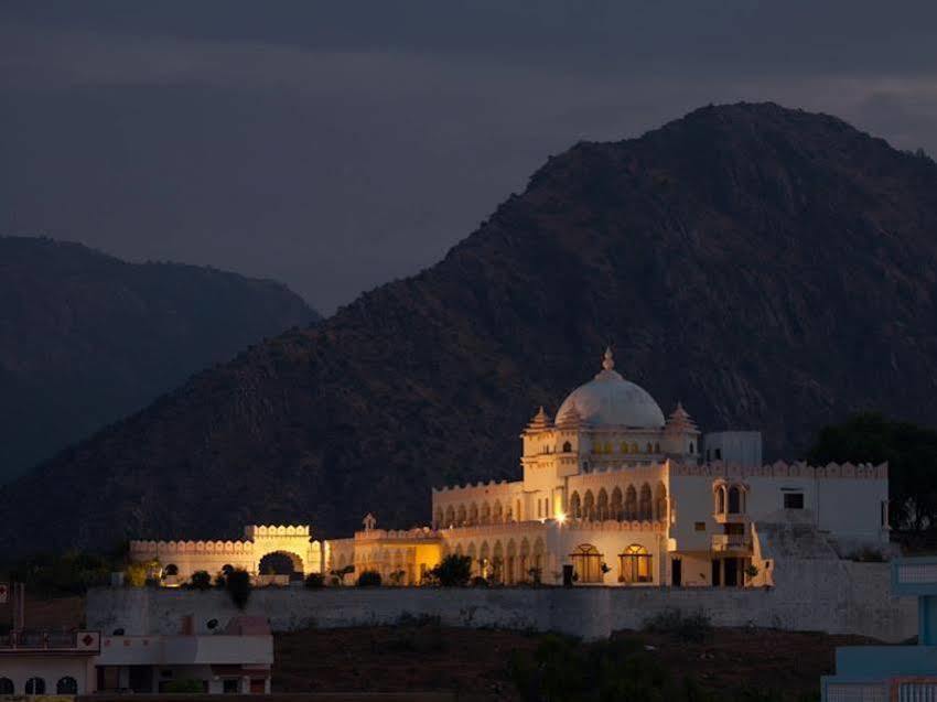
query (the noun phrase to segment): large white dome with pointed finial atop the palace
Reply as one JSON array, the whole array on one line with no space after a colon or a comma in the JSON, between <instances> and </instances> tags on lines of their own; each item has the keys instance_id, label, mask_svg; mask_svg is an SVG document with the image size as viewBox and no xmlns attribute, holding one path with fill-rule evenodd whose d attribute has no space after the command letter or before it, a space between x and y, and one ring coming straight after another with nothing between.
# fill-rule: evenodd
<instances>
[{"instance_id":1,"label":"large white dome with pointed finial atop the palace","mask_svg":"<svg viewBox=\"0 0 937 702\"><path fill-rule=\"evenodd\" d=\"M594 426L618 425L640 429L661 429L664 412L644 388L625 380L614 370L612 353L605 352L603 370L579 386L563 400L557 412L559 421L575 408L580 418Z\"/></svg>"}]
</instances>

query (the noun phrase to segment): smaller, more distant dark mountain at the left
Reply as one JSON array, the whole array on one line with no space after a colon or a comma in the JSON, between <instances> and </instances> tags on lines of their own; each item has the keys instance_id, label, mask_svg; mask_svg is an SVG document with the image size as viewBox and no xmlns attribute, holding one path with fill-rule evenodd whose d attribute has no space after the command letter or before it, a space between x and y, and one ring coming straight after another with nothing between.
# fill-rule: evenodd
<instances>
[{"instance_id":1,"label":"smaller, more distant dark mountain at the left","mask_svg":"<svg viewBox=\"0 0 937 702\"><path fill-rule=\"evenodd\" d=\"M315 318L271 281L0 237L0 482Z\"/></svg>"}]
</instances>

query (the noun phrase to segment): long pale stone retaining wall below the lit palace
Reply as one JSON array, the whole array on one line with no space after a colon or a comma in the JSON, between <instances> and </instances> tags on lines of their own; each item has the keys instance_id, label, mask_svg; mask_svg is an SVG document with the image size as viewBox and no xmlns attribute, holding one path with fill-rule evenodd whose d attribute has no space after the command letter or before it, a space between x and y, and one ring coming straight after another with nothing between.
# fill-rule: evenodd
<instances>
[{"instance_id":1,"label":"long pale stone retaining wall below the lit palace","mask_svg":"<svg viewBox=\"0 0 937 702\"><path fill-rule=\"evenodd\" d=\"M788 565L790 565L788 563ZM827 569L823 569L827 570ZM244 614L270 619L274 631L395 624L401 616L434 616L445 625L561 631L585 639L638 629L672 608L704 612L715 626L776 627L859 634L902 641L917 633L914 598L891 594L887 563L839 562L820 573L798 564L775 588L664 587L304 587L255 590ZM790 583L798 583L793 585ZM128 636L179 634L184 616L195 633L241 614L223 591L96 588L88 593L88 627Z\"/></svg>"}]
</instances>

